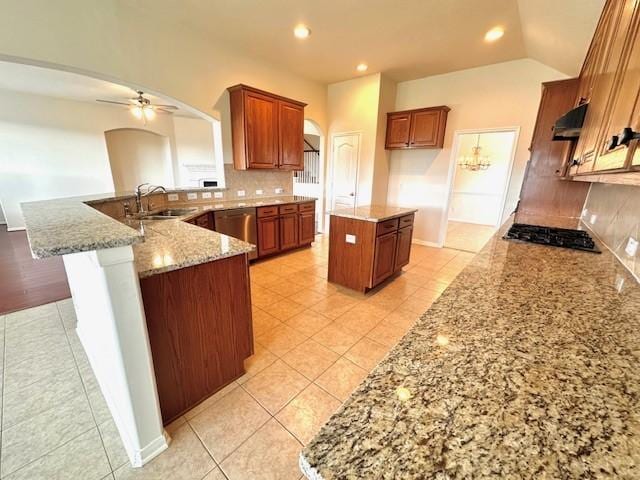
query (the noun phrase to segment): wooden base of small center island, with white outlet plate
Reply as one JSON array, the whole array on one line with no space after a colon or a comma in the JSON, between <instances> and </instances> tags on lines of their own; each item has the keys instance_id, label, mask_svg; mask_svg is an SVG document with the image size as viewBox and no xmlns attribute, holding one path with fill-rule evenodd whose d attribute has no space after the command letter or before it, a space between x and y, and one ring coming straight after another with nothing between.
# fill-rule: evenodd
<instances>
[{"instance_id":1,"label":"wooden base of small center island, with white outlet plate","mask_svg":"<svg viewBox=\"0 0 640 480\"><path fill-rule=\"evenodd\" d=\"M411 256L413 218L372 222L331 215L328 280L366 292L399 272Z\"/></svg>"}]
</instances>

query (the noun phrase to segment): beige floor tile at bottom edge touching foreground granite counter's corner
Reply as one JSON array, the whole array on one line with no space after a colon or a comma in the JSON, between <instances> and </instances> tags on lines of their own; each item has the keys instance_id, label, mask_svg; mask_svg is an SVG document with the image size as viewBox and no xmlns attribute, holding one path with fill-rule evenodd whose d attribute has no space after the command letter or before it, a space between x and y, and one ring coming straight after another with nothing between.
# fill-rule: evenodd
<instances>
[{"instance_id":1,"label":"beige floor tile at bottom edge touching foreground granite counter's corner","mask_svg":"<svg viewBox=\"0 0 640 480\"><path fill-rule=\"evenodd\" d=\"M222 462L229 480L290 480L300 478L302 445L272 419Z\"/></svg>"}]
</instances>

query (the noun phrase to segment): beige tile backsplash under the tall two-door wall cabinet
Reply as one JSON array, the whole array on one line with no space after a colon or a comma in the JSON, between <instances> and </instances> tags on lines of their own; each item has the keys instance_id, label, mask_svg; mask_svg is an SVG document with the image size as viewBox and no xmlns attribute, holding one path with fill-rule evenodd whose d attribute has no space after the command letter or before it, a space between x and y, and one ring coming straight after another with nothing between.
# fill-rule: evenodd
<instances>
[{"instance_id":1,"label":"beige tile backsplash under the tall two-door wall cabinet","mask_svg":"<svg viewBox=\"0 0 640 480\"><path fill-rule=\"evenodd\" d=\"M293 195L293 172L286 170L236 170L233 165L225 164L224 178L227 184L224 200ZM258 190L262 190L262 194L256 193Z\"/></svg>"}]
</instances>

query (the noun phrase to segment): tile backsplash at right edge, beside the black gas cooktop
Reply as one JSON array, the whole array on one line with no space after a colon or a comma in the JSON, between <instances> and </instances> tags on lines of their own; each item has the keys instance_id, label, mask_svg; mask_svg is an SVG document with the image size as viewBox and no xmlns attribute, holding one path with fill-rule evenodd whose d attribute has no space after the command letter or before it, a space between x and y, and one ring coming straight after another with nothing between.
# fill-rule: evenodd
<instances>
[{"instance_id":1,"label":"tile backsplash at right edge, beside the black gas cooktop","mask_svg":"<svg viewBox=\"0 0 640 480\"><path fill-rule=\"evenodd\" d=\"M582 221L602 240L636 278L640 277L640 186L591 185ZM630 241L631 239L631 241Z\"/></svg>"}]
</instances>

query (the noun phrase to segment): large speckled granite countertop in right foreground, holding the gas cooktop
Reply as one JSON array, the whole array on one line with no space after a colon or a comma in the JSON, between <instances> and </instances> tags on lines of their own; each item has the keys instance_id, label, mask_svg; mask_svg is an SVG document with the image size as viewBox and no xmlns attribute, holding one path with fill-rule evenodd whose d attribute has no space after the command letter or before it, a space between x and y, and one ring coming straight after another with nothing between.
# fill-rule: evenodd
<instances>
[{"instance_id":1,"label":"large speckled granite countertop in right foreground, holding the gas cooktop","mask_svg":"<svg viewBox=\"0 0 640 480\"><path fill-rule=\"evenodd\" d=\"M504 230L306 446L308 478L640 478L640 286L601 245Z\"/></svg>"}]
</instances>

